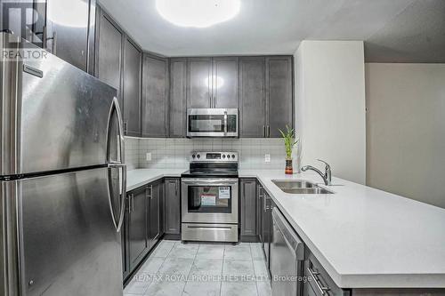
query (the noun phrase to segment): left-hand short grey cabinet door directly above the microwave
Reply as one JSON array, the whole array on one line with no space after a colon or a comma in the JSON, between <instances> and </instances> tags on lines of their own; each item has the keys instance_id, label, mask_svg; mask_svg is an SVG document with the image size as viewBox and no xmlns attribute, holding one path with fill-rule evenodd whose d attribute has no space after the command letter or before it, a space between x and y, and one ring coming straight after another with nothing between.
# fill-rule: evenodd
<instances>
[{"instance_id":1,"label":"left-hand short grey cabinet door directly above the microwave","mask_svg":"<svg viewBox=\"0 0 445 296\"><path fill-rule=\"evenodd\" d=\"M187 108L212 108L212 59L190 58L187 65Z\"/></svg>"}]
</instances>

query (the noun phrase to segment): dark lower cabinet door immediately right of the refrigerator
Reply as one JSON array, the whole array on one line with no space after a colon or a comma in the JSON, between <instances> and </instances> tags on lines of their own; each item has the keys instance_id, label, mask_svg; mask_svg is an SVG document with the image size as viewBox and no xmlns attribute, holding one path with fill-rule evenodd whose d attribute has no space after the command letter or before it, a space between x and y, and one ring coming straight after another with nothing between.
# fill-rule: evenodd
<instances>
[{"instance_id":1,"label":"dark lower cabinet door immediately right of the refrigerator","mask_svg":"<svg viewBox=\"0 0 445 296\"><path fill-rule=\"evenodd\" d=\"M129 252L130 252L130 268L137 266L144 256L147 247L147 197L145 188L136 189L129 196Z\"/></svg>"}]
</instances>

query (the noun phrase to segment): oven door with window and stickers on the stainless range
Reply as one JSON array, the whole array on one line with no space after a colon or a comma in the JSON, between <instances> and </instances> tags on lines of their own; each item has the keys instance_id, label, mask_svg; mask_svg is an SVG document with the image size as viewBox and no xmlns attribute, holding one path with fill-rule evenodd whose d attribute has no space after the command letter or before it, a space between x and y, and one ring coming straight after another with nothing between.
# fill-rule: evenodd
<instances>
[{"instance_id":1,"label":"oven door with window and stickers on the stainless range","mask_svg":"<svg viewBox=\"0 0 445 296\"><path fill-rule=\"evenodd\" d=\"M182 222L238 223L238 179L182 179Z\"/></svg>"}]
</instances>

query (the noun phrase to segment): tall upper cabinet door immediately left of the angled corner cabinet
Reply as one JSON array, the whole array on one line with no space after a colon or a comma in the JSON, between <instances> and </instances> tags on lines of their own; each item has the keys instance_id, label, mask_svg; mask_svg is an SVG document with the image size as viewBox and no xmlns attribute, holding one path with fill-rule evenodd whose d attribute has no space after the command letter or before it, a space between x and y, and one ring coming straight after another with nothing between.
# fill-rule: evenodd
<instances>
[{"instance_id":1,"label":"tall upper cabinet door immediately left of the angled corner cabinet","mask_svg":"<svg viewBox=\"0 0 445 296\"><path fill-rule=\"evenodd\" d=\"M124 55L124 129L127 136L141 136L142 52L125 38Z\"/></svg>"}]
</instances>

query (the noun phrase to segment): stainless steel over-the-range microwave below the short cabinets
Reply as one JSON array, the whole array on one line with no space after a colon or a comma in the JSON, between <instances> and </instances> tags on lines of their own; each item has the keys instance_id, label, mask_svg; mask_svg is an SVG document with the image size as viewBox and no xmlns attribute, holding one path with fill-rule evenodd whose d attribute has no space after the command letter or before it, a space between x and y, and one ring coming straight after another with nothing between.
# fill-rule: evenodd
<instances>
[{"instance_id":1,"label":"stainless steel over-the-range microwave below the short cabinets","mask_svg":"<svg viewBox=\"0 0 445 296\"><path fill-rule=\"evenodd\" d=\"M187 137L238 138L238 108L188 108Z\"/></svg>"}]
</instances>

